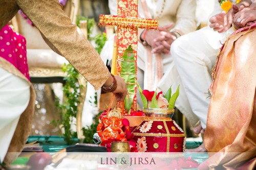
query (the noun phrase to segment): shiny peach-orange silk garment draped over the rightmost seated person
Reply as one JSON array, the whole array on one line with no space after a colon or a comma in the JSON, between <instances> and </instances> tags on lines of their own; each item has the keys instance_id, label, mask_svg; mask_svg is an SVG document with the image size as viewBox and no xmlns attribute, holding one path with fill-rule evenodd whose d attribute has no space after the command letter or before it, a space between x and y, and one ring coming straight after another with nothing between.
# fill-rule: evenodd
<instances>
[{"instance_id":1,"label":"shiny peach-orange silk garment draped over the rightmost seated person","mask_svg":"<svg viewBox=\"0 0 256 170\"><path fill-rule=\"evenodd\" d=\"M254 169L256 164L256 24L231 35L214 70L199 169Z\"/></svg>"}]
</instances>

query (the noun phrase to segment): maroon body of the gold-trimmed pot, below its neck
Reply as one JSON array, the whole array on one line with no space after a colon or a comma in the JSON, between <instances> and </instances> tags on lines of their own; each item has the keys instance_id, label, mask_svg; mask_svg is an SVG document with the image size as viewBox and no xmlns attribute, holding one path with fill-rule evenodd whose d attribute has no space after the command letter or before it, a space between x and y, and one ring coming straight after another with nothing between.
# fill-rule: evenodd
<instances>
[{"instance_id":1,"label":"maroon body of the gold-trimmed pot, below its neck","mask_svg":"<svg viewBox=\"0 0 256 170\"><path fill-rule=\"evenodd\" d=\"M152 121L152 127L148 122ZM146 123L146 124L145 124ZM145 132L146 131L146 132ZM145 118L145 120L133 131L139 152L184 152L185 134L183 130L170 118ZM138 143L145 139L144 146ZM144 147L143 149L141 147Z\"/></svg>"}]
</instances>

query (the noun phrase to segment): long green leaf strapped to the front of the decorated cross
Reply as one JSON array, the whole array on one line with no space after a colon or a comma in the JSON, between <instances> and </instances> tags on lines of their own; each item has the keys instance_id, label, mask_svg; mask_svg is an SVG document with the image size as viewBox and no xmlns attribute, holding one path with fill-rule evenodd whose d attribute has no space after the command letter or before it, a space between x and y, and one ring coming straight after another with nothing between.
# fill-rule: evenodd
<instances>
[{"instance_id":1,"label":"long green leaf strapped to the front of the decorated cross","mask_svg":"<svg viewBox=\"0 0 256 170\"><path fill-rule=\"evenodd\" d=\"M133 99L135 96L135 85L136 85L136 67L133 48L131 45L123 53L123 61L121 62L120 76L124 78L126 87L128 88L128 94L124 99L124 107L127 112L131 109Z\"/></svg>"}]
</instances>

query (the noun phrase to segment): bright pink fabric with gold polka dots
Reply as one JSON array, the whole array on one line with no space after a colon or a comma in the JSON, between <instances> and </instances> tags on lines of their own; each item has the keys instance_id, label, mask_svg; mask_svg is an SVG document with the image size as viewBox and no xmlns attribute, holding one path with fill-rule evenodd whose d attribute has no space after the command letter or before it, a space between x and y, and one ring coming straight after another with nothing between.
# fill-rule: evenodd
<instances>
[{"instance_id":1,"label":"bright pink fabric with gold polka dots","mask_svg":"<svg viewBox=\"0 0 256 170\"><path fill-rule=\"evenodd\" d=\"M13 64L29 80L26 39L6 25L0 30L0 57Z\"/></svg>"}]
</instances>

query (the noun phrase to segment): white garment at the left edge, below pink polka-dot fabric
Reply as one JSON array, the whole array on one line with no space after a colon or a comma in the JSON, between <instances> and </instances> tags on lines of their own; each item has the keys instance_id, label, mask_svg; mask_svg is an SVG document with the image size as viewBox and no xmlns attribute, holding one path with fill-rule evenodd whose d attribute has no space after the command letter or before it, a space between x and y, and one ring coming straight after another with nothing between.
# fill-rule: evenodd
<instances>
[{"instance_id":1,"label":"white garment at the left edge, below pink polka-dot fabric","mask_svg":"<svg viewBox=\"0 0 256 170\"><path fill-rule=\"evenodd\" d=\"M30 100L30 86L25 80L0 68L0 159L3 162L19 116Z\"/></svg>"}]
</instances>

